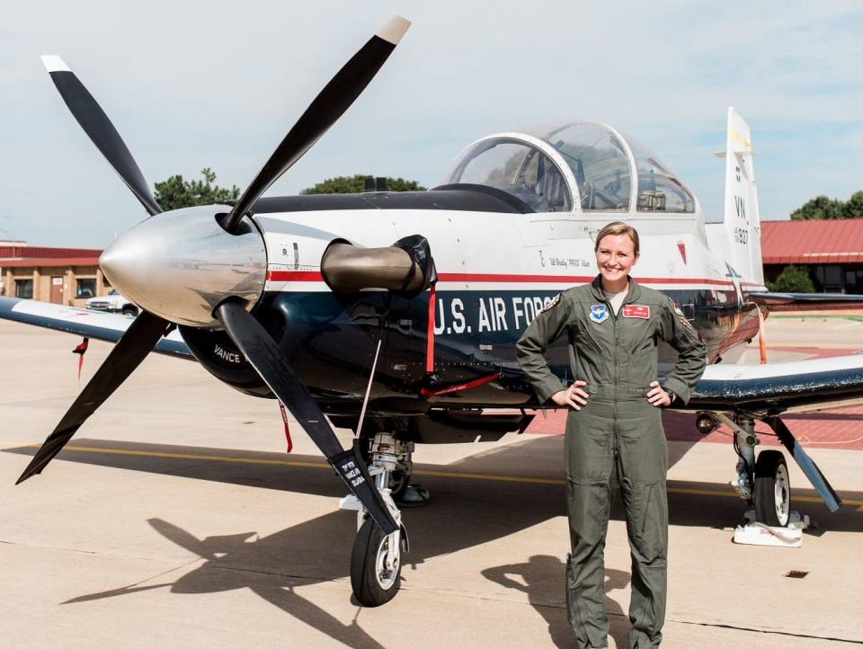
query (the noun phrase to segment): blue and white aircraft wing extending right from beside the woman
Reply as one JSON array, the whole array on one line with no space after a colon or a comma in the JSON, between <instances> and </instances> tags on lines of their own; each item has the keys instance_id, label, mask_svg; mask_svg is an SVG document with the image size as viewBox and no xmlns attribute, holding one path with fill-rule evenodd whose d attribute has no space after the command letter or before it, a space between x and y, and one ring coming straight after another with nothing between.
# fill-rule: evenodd
<instances>
[{"instance_id":1,"label":"blue and white aircraft wing extending right from beside the woman","mask_svg":"<svg viewBox=\"0 0 863 649\"><path fill-rule=\"evenodd\" d=\"M691 410L823 410L863 403L863 354L766 365L709 365Z\"/></svg>"}]
</instances>

